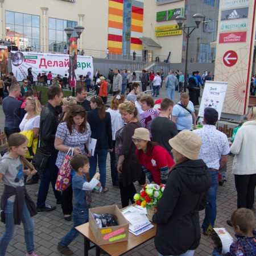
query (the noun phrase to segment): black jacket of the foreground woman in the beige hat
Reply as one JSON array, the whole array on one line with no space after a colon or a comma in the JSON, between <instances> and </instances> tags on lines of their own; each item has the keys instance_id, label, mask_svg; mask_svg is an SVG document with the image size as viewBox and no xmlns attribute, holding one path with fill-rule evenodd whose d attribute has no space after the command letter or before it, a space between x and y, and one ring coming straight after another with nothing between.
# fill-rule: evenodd
<instances>
[{"instance_id":1,"label":"black jacket of the foreground woman in the beige hat","mask_svg":"<svg viewBox=\"0 0 256 256\"><path fill-rule=\"evenodd\" d=\"M158 210L155 247L163 255L180 255L199 246L199 210L208 201L212 179L204 161L188 160L170 172Z\"/></svg>"}]
</instances>

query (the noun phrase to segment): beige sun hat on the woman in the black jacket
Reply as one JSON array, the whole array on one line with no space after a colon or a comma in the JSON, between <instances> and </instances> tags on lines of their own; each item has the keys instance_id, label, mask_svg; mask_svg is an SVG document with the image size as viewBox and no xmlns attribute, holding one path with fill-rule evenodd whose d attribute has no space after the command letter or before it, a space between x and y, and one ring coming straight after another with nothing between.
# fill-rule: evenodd
<instances>
[{"instance_id":1,"label":"beige sun hat on the woman in the black jacket","mask_svg":"<svg viewBox=\"0 0 256 256\"><path fill-rule=\"evenodd\" d=\"M188 159L196 160L198 159L202 141L193 131L183 130L170 139L169 144Z\"/></svg>"}]
</instances>

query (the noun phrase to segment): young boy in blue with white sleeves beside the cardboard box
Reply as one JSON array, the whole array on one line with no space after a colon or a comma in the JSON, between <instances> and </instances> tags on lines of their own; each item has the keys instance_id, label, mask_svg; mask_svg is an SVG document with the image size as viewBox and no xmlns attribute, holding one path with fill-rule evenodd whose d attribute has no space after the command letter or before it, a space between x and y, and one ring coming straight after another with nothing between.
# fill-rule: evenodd
<instances>
[{"instance_id":1,"label":"young boy in blue with white sleeves beside the cardboard box","mask_svg":"<svg viewBox=\"0 0 256 256\"><path fill-rule=\"evenodd\" d=\"M73 194L75 196L75 206L73 208L73 227L59 242L57 249L64 255L72 255L73 251L69 249L68 245L78 235L79 232L75 229L76 226L88 222L88 209L92 202L92 194L90 191L96 185L101 186L98 178L100 174L96 173L90 182L87 181L85 174L89 173L89 159L85 155L75 155L71 159L71 166L75 170L76 175L72 178Z\"/></svg>"}]
</instances>

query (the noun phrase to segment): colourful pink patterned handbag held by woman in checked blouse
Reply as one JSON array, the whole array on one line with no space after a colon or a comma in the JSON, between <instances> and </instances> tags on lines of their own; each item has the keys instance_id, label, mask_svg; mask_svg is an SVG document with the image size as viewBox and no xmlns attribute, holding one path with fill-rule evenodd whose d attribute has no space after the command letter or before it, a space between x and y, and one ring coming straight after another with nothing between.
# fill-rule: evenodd
<instances>
[{"instance_id":1,"label":"colourful pink patterned handbag held by woman in checked blouse","mask_svg":"<svg viewBox=\"0 0 256 256\"><path fill-rule=\"evenodd\" d=\"M55 189L57 191L64 191L71 184L71 174L72 174L71 159L73 157L73 150L74 148L72 148L72 152L70 155L69 152L71 151L71 148L69 147L67 155L65 156L65 159L60 166L56 184L55 184Z\"/></svg>"}]
</instances>

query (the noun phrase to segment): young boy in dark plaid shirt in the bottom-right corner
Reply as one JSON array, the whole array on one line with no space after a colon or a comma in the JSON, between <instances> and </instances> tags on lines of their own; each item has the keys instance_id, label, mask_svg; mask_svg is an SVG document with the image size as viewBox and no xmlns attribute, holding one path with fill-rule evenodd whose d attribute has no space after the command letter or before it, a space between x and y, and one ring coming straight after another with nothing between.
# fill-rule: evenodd
<instances>
[{"instance_id":1,"label":"young boy in dark plaid shirt in the bottom-right corner","mask_svg":"<svg viewBox=\"0 0 256 256\"><path fill-rule=\"evenodd\" d=\"M254 213L250 209L239 208L233 212L231 222L237 237L230 245L227 256L255 256L256 255L256 232L254 230ZM214 248L213 255L222 255Z\"/></svg>"}]
</instances>

